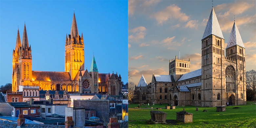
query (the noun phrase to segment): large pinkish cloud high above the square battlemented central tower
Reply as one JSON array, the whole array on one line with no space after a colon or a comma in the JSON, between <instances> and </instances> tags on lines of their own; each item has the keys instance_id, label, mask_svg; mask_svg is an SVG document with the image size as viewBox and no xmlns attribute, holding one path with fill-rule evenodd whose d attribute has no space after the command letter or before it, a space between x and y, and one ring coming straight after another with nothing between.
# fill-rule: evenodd
<instances>
[{"instance_id":1,"label":"large pinkish cloud high above the square battlemented central tower","mask_svg":"<svg viewBox=\"0 0 256 128\"><path fill-rule=\"evenodd\" d=\"M166 7L161 11L153 13L151 17L155 18L160 25L162 25L163 22L166 22L167 20L179 20L180 22L185 22L189 19L189 16L181 12L181 8L174 4Z\"/></svg>"}]
</instances>

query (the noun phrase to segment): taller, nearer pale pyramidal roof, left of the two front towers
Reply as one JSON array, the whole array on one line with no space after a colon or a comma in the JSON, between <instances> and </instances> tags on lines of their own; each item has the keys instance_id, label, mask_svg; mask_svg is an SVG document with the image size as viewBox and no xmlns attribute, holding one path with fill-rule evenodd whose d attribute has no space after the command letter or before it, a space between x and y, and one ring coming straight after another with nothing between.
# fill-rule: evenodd
<instances>
[{"instance_id":1,"label":"taller, nearer pale pyramidal roof, left of the two front towers","mask_svg":"<svg viewBox=\"0 0 256 128\"><path fill-rule=\"evenodd\" d=\"M203 33L202 40L204 38L206 38L207 36L211 35L211 34L216 35L216 36L224 39L222 31L221 31L220 24L218 22L218 19L217 19L217 16L215 14L215 11L214 11L213 7L212 7L211 14L209 16L208 22L206 24L204 33Z\"/></svg>"}]
</instances>

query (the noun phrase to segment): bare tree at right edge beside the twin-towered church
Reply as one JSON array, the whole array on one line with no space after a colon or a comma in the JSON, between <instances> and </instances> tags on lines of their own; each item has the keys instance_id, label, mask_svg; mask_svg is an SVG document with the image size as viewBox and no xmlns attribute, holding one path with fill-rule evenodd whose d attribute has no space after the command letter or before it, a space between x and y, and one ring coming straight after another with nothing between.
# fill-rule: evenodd
<instances>
[{"instance_id":1,"label":"bare tree at right edge beside the twin-towered church","mask_svg":"<svg viewBox=\"0 0 256 128\"><path fill-rule=\"evenodd\" d=\"M246 74L246 89L254 92L253 99L256 99L256 71L247 71Z\"/></svg>"}]
</instances>

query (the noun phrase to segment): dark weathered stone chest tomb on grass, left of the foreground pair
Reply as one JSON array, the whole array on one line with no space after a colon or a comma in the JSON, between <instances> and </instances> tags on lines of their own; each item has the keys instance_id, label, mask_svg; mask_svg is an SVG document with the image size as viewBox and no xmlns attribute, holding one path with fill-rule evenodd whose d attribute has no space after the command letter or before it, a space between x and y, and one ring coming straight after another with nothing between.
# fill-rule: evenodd
<instances>
[{"instance_id":1,"label":"dark weathered stone chest tomb on grass, left of the foreground pair","mask_svg":"<svg viewBox=\"0 0 256 128\"><path fill-rule=\"evenodd\" d=\"M151 116L151 120L155 124L157 124L157 123L167 124L165 122L167 113L164 113L161 111L150 111L150 116Z\"/></svg>"}]
</instances>

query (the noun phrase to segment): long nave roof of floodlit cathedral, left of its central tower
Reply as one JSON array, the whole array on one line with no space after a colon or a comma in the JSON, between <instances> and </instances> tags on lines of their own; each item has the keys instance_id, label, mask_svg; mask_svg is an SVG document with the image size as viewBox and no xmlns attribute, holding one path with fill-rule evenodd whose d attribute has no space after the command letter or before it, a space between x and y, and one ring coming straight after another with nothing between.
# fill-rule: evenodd
<instances>
[{"instance_id":1,"label":"long nave roof of floodlit cathedral, left of its central tower","mask_svg":"<svg viewBox=\"0 0 256 128\"><path fill-rule=\"evenodd\" d=\"M71 81L68 72L32 71L32 78L39 81Z\"/></svg>"}]
</instances>

